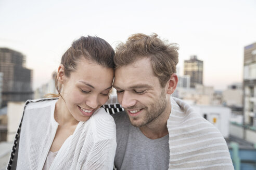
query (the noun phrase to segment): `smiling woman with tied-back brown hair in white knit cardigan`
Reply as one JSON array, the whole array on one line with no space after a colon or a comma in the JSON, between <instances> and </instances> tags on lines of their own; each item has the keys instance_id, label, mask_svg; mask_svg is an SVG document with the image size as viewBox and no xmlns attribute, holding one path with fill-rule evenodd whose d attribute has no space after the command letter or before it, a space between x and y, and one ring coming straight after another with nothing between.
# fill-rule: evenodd
<instances>
[{"instance_id":1,"label":"smiling woman with tied-back brown hair in white knit cardigan","mask_svg":"<svg viewBox=\"0 0 256 170\"><path fill-rule=\"evenodd\" d=\"M8 169L113 169L116 126L100 108L112 88L113 55L101 38L74 41L58 68L60 97L25 104Z\"/></svg>"}]
</instances>

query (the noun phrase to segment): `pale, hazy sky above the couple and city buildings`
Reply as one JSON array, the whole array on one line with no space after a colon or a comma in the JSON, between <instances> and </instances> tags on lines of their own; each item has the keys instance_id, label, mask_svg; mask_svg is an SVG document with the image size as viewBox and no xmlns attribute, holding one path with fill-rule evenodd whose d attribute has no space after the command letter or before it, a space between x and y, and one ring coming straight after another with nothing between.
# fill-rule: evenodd
<instances>
[{"instance_id":1,"label":"pale, hazy sky above the couple and city buildings","mask_svg":"<svg viewBox=\"0 0 256 170\"><path fill-rule=\"evenodd\" d=\"M204 85L225 90L242 82L244 47L256 42L255 16L255 0L0 0L0 47L26 56L36 89L81 36L96 35L115 48L132 34L157 33L179 45L181 75L184 60L197 55Z\"/></svg>"}]
</instances>

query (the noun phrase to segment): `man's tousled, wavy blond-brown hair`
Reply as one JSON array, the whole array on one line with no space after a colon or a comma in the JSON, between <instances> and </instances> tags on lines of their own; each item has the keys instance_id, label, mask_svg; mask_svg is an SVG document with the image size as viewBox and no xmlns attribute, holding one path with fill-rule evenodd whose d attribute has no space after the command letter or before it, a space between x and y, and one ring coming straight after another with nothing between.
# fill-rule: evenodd
<instances>
[{"instance_id":1,"label":"man's tousled, wavy blond-brown hair","mask_svg":"<svg viewBox=\"0 0 256 170\"><path fill-rule=\"evenodd\" d=\"M125 44L116 48L114 63L116 68L136 62L141 58L150 58L153 72L158 77L161 87L164 87L170 76L176 73L178 63L177 44L168 44L158 38L158 35L134 34Z\"/></svg>"}]
</instances>

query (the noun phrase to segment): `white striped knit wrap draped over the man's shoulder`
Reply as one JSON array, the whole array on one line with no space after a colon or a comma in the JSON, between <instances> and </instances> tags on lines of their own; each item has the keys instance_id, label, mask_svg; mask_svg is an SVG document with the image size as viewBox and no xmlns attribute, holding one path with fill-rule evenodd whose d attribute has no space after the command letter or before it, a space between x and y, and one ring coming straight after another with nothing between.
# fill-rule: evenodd
<instances>
[{"instance_id":1,"label":"white striped knit wrap draped over the man's shoulder","mask_svg":"<svg viewBox=\"0 0 256 170\"><path fill-rule=\"evenodd\" d=\"M112 96L106 106L110 108L117 103L117 97ZM169 169L233 170L226 141L219 130L182 100L171 97L171 106L167 121Z\"/></svg>"}]
</instances>

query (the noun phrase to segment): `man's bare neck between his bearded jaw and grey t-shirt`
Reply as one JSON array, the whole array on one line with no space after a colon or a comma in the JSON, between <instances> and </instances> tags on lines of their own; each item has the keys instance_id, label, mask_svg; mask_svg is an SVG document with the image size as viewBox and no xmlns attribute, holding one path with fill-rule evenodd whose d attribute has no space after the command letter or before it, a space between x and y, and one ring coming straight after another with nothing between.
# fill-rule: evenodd
<instances>
[{"instance_id":1,"label":"man's bare neck between his bearded jaw and grey t-shirt","mask_svg":"<svg viewBox=\"0 0 256 170\"><path fill-rule=\"evenodd\" d=\"M158 139L168 134L167 121L171 113L171 102L163 113L152 122L139 127L140 131L150 139Z\"/></svg>"}]
</instances>

